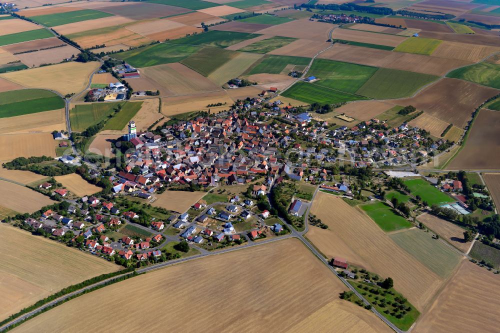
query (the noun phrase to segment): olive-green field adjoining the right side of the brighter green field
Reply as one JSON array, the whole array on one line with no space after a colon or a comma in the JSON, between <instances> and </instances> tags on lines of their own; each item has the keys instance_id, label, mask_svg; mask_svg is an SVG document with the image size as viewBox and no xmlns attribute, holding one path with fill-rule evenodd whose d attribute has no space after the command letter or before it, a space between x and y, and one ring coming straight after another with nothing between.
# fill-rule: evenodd
<instances>
[{"instance_id":1,"label":"olive-green field adjoining the right side of the brighter green field","mask_svg":"<svg viewBox=\"0 0 500 333\"><path fill-rule=\"evenodd\" d=\"M412 71L379 68L356 93L375 99L407 97L437 78Z\"/></svg>"}]
</instances>

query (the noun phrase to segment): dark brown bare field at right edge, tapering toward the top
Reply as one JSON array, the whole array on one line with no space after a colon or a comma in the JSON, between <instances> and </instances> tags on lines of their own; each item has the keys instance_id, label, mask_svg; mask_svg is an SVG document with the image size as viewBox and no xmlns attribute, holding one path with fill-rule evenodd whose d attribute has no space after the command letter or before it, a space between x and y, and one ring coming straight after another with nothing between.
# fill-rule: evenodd
<instances>
[{"instance_id":1,"label":"dark brown bare field at right edge, tapering toward the top","mask_svg":"<svg viewBox=\"0 0 500 333\"><path fill-rule=\"evenodd\" d=\"M447 165L452 169L497 169L500 113L481 109L475 118L463 149ZM480 149L477 149L480 147Z\"/></svg>"}]
</instances>

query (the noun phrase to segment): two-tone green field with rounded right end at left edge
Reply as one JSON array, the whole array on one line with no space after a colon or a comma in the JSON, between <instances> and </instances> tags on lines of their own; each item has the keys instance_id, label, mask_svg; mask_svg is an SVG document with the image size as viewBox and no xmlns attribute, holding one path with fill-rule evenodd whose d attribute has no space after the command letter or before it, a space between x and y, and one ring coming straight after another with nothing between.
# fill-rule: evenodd
<instances>
[{"instance_id":1,"label":"two-tone green field with rounded right end at left edge","mask_svg":"<svg viewBox=\"0 0 500 333\"><path fill-rule=\"evenodd\" d=\"M64 107L57 94L41 89L0 92L0 118L56 110Z\"/></svg>"}]
</instances>

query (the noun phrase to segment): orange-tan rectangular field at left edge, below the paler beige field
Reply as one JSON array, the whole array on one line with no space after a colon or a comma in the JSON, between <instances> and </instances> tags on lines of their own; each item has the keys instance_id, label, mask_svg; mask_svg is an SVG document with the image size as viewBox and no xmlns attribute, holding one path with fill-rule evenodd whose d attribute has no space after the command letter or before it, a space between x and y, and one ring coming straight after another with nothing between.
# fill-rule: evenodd
<instances>
[{"instance_id":1,"label":"orange-tan rectangular field at left edge, below the paler beige field","mask_svg":"<svg viewBox=\"0 0 500 333\"><path fill-rule=\"evenodd\" d=\"M0 161L16 157L55 156L51 133L0 135Z\"/></svg>"}]
</instances>

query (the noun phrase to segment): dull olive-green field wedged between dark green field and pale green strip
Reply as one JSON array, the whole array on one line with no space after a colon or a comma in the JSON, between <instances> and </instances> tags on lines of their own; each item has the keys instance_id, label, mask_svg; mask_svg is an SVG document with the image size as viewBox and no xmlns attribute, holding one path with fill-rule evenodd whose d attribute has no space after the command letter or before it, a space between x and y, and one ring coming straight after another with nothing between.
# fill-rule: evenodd
<instances>
[{"instance_id":1,"label":"dull olive-green field wedged between dark green field and pale green strip","mask_svg":"<svg viewBox=\"0 0 500 333\"><path fill-rule=\"evenodd\" d=\"M236 55L238 55L236 51L215 47L203 47L196 53L181 60L180 63L196 70L201 75L208 76Z\"/></svg>"}]
</instances>

